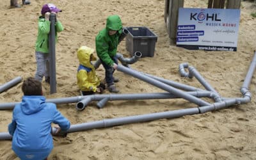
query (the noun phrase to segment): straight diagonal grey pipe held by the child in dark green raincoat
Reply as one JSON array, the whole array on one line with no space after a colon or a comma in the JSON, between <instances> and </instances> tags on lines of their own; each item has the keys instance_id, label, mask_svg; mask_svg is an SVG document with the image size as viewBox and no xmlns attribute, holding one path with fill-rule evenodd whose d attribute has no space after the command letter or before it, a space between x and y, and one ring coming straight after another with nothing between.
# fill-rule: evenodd
<instances>
[{"instance_id":1,"label":"straight diagonal grey pipe held by the child in dark green raincoat","mask_svg":"<svg viewBox=\"0 0 256 160\"><path fill-rule=\"evenodd\" d=\"M138 79L141 79L141 80L143 80L147 83L150 83L154 86L157 86L158 88L161 88L169 93L172 93L173 95L177 95L178 97L186 99L189 102L198 104L199 106L209 106L210 105L208 102L205 102L204 100L198 99L197 97L194 97L193 95L189 95L188 93L182 92L176 88L173 88L172 86L169 86L165 83L157 81L156 79L145 76L144 74L141 74L140 72L138 72L136 70L132 70L132 69L124 67L122 65L118 65L117 70L124 72L125 74L129 74Z\"/></svg>"}]
</instances>

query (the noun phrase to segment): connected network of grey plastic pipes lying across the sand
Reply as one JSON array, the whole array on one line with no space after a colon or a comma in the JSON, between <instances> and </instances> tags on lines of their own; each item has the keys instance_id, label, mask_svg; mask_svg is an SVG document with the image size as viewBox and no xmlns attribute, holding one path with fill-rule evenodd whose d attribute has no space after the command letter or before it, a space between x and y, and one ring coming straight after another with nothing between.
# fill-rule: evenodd
<instances>
[{"instance_id":1,"label":"connected network of grey plastic pipes lying across the sand","mask_svg":"<svg viewBox=\"0 0 256 160\"><path fill-rule=\"evenodd\" d=\"M138 53L136 53L138 54ZM139 53L140 54L140 53ZM134 55L140 56L140 55ZM122 58L125 59L125 58ZM133 58L138 59L138 58ZM119 59L120 60L120 59ZM128 64L130 61L125 60L124 63ZM127 63L128 62L128 63ZM177 109L173 111L164 111L160 113L150 113L145 115L136 116L125 116L121 118L110 118L106 120L99 120L95 122L86 122L83 124L71 125L70 129L60 134L67 134L69 132L86 131L88 129L97 129L103 127L113 127L116 125L131 124L137 122L147 122L152 120L158 120L161 118L177 118L184 115L194 115L199 113L205 113L208 111L214 111L217 109L228 108L230 106L246 104L251 100L251 93L248 90L253 72L256 67L256 52L254 52L253 60L250 64L244 83L241 86L241 97L227 98L221 97L221 95L212 88L212 86L205 81L204 77L196 70L196 68L189 66L187 63L182 63L179 65L180 76L182 77L195 77L204 86L204 89L195 88L186 84L177 83L175 81L170 81L163 79L162 77L152 76L143 72L139 72L124 65L118 65L117 70L124 72L130 76L136 77L145 81L149 84L161 88L166 91L164 93L129 93L129 94L102 94L102 95L87 95L87 96L77 96L77 97L65 97L59 99L47 99L46 102L53 102L55 104L67 104L76 103L76 109L83 110L92 101L98 101L98 108L103 108L104 105L109 100L141 100L141 99L185 99L189 102L193 102L198 106L195 108ZM188 72L186 72L188 70ZM214 103L206 102L200 98L207 97L214 100ZM15 104L20 102L8 102L0 104L0 109L13 109ZM0 133L0 140L11 140L12 136L8 132Z\"/></svg>"}]
</instances>

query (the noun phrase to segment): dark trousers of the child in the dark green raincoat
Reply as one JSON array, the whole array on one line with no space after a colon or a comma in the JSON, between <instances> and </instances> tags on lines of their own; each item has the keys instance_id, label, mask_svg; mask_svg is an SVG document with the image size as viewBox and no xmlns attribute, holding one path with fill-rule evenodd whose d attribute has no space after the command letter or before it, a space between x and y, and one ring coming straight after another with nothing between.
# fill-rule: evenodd
<instances>
[{"instance_id":1,"label":"dark trousers of the child in the dark green raincoat","mask_svg":"<svg viewBox=\"0 0 256 160\"><path fill-rule=\"evenodd\" d=\"M114 63L116 63L116 65L118 65L118 60L117 60L116 56L111 57L111 60L113 60ZM110 65L107 65L106 63L104 63L104 61L102 61L102 60L100 60L100 61L101 61L101 64L103 65L103 67L105 68L106 82L107 82L108 86L111 86L112 84L114 84L113 73L115 70Z\"/></svg>"}]
</instances>

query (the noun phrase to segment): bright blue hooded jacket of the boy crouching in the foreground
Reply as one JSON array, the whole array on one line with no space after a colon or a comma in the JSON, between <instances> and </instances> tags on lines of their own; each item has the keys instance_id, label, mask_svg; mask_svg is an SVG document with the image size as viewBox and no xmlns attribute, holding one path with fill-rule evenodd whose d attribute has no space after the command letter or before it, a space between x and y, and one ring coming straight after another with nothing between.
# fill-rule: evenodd
<instances>
[{"instance_id":1,"label":"bright blue hooded jacket of the boy crouching in the foreground","mask_svg":"<svg viewBox=\"0 0 256 160\"><path fill-rule=\"evenodd\" d=\"M53 103L45 102L44 96L22 97L13 109L12 123L8 131L13 136L12 149L20 159L44 159L53 148L51 123L67 131L70 122L61 115Z\"/></svg>"}]
</instances>

